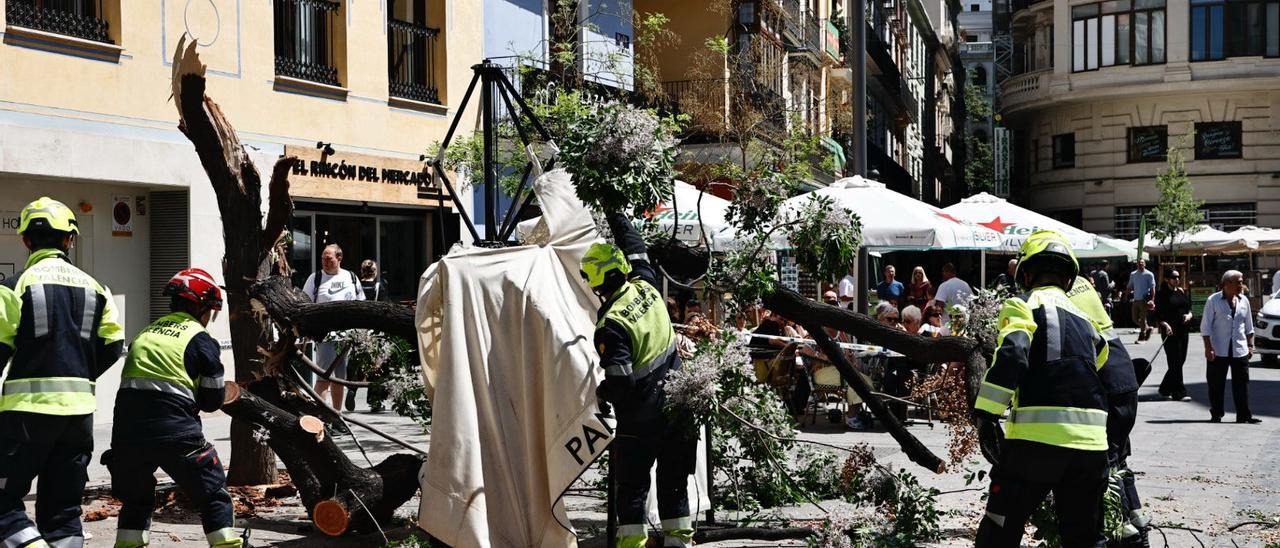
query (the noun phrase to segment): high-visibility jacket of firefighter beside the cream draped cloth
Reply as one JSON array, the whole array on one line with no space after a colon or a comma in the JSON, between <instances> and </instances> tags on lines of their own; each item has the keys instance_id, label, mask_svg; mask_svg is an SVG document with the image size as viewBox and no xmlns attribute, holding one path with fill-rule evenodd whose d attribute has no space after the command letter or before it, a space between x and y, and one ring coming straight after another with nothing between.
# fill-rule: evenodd
<instances>
[{"instance_id":1,"label":"high-visibility jacket of firefighter beside the cream draped cloth","mask_svg":"<svg viewBox=\"0 0 1280 548\"><path fill-rule=\"evenodd\" d=\"M604 328L608 321L621 325L631 339L631 364L605 365L605 376L641 379L676 353L676 332L666 301L648 282L623 283L595 328Z\"/></svg>"}]
</instances>

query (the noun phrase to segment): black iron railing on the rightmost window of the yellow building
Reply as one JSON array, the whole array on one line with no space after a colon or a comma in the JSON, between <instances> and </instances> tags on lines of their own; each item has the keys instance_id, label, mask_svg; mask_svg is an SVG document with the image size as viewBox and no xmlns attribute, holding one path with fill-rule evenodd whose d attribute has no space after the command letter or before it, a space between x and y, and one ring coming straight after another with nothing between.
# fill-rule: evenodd
<instances>
[{"instance_id":1,"label":"black iron railing on the rightmost window of the yellow building","mask_svg":"<svg viewBox=\"0 0 1280 548\"><path fill-rule=\"evenodd\" d=\"M439 28L387 20L387 72L393 97L440 102L435 82L435 42L439 36Z\"/></svg>"}]
</instances>

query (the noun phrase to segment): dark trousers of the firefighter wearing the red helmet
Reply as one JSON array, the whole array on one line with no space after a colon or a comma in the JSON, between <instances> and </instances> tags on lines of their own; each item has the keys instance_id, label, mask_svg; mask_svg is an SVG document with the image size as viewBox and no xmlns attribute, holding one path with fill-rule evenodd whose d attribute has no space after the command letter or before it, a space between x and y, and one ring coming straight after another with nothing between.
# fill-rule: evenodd
<instances>
[{"instance_id":1,"label":"dark trousers of the firefighter wearing the red helmet","mask_svg":"<svg viewBox=\"0 0 1280 548\"><path fill-rule=\"evenodd\" d=\"M124 503L118 525L122 530L151 529L156 469L169 474L200 510L206 534L234 526L227 472L214 446L204 439L113 447L102 455L102 463L111 472L111 496Z\"/></svg>"}]
</instances>

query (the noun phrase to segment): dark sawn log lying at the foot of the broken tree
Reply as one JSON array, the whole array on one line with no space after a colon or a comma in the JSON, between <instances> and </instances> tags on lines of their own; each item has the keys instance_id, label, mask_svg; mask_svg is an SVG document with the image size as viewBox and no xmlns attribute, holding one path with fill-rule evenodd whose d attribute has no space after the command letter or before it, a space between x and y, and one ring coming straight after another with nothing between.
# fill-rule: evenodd
<instances>
[{"instance_id":1,"label":"dark sawn log lying at the foot of the broken tree","mask_svg":"<svg viewBox=\"0 0 1280 548\"><path fill-rule=\"evenodd\" d=\"M425 461L397 453L372 469L356 466L311 415L294 415L276 406L287 393L275 379L253 385L262 397L228 382L223 411L266 430L268 444L284 461L298 496L316 529L329 535L371 533L390 521L417 492L417 472Z\"/></svg>"}]
</instances>

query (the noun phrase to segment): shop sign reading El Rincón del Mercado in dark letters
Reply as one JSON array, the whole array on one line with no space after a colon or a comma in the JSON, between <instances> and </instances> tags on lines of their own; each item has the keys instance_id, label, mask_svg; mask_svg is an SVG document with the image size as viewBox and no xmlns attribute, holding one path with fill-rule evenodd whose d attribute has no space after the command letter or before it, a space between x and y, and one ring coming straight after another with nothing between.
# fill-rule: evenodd
<instances>
[{"instance_id":1,"label":"shop sign reading El Rinc\u00f3n del Mercado in dark letters","mask_svg":"<svg viewBox=\"0 0 1280 548\"><path fill-rule=\"evenodd\" d=\"M289 170L294 196L364 202L438 205L444 197L422 161L353 152L321 154L311 147L284 147L297 157Z\"/></svg>"}]
</instances>

